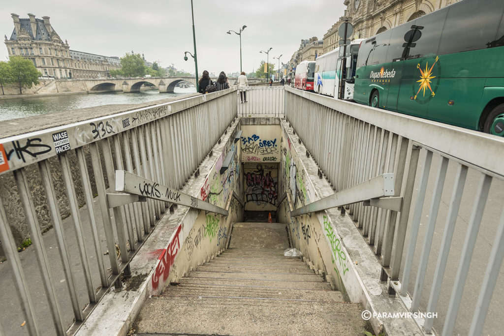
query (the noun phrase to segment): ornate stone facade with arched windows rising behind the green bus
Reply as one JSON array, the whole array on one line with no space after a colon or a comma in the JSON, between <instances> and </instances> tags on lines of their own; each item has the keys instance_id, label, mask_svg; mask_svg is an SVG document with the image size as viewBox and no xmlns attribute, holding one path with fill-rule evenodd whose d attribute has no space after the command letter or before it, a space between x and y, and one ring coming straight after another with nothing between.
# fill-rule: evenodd
<instances>
[{"instance_id":1,"label":"ornate stone facade with arched windows rising behind the green bus","mask_svg":"<svg viewBox=\"0 0 504 336\"><path fill-rule=\"evenodd\" d=\"M354 26L352 39L357 39L384 32L457 1L344 0L343 4L347 6L345 15L350 17L350 22ZM339 24L337 25L339 26Z\"/></svg>"}]
</instances>

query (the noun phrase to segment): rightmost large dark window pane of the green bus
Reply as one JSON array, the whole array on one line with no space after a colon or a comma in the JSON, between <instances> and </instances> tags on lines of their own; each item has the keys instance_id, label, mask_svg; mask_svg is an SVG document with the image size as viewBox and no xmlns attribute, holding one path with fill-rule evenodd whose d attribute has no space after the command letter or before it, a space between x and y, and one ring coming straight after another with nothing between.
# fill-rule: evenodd
<instances>
[{"instance_id":1,"label":"rightmost large dark window pane of the green bus","mask_svg":"<svg viewBox=\"0 0 504 336\"><path fill-rule=\"evenodd\" d=\"M465 0L451 5L439 54L487 48L496 39L503 7L502 1L488 0Z\"/></svg>"}]
</instances>

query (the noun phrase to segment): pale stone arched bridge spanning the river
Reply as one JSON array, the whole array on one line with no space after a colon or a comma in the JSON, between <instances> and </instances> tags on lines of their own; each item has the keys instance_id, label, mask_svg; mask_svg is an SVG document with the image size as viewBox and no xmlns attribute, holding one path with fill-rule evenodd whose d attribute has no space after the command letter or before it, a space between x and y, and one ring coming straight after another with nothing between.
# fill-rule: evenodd
<instances>
[{"instance_id":1,"label":"pale stone arched bridge spanning the river","mask_svg":"<svg viewBox=\"0 0 504 336\"><path fill-rule=\"evenodd\" d=\"M216 77L211 77L216 81ZM255 79L249 79L254 83ZM138 92L145 84L151 84L159 89L159 92L173 92L180 83L191 83L196 86L194 77L135 77L135 78L99 78L99 79L71 79L57 80L60 91L122 91ZM236 78L229 78L231 85L236 85ZM147 84L147 85L149 85ZM63 89L63 90L61 90Z\"/></svg>"}]
</instances>

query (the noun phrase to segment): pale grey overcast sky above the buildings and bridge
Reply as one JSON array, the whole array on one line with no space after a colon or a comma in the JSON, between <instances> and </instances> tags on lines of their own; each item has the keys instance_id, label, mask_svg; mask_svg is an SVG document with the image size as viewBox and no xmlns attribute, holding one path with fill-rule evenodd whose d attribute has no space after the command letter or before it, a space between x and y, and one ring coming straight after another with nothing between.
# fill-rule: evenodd
<instances>
[{"instance_id":1,"label":"pale grey overcast sky above the buildings and bridge","mask_svg":"<svg viewBox=\"0 0 504 336\"><path fill-rule=\"evenodd\" d=\"M198 70L219 73L240 69L241 35L243 71L255 71L266 60L261 50L273 49L272 59L283 54L286 62L299 47L301 39L320 39L343 16L343 0L193 0ZM37 19L49 16L54 30L70 49L106 56L125 52L144 53L149 61L159 60L163 67L173 64L179 70L194 73L194 61L183 60L184 51L194 52L190 0L18 0L3 2L0 8L0 32L10 38L14 24L11 13ZM0 59L7 58L0 47ZM275 69L278 65L275 65Z\"/></svg>"}]
</instances>

